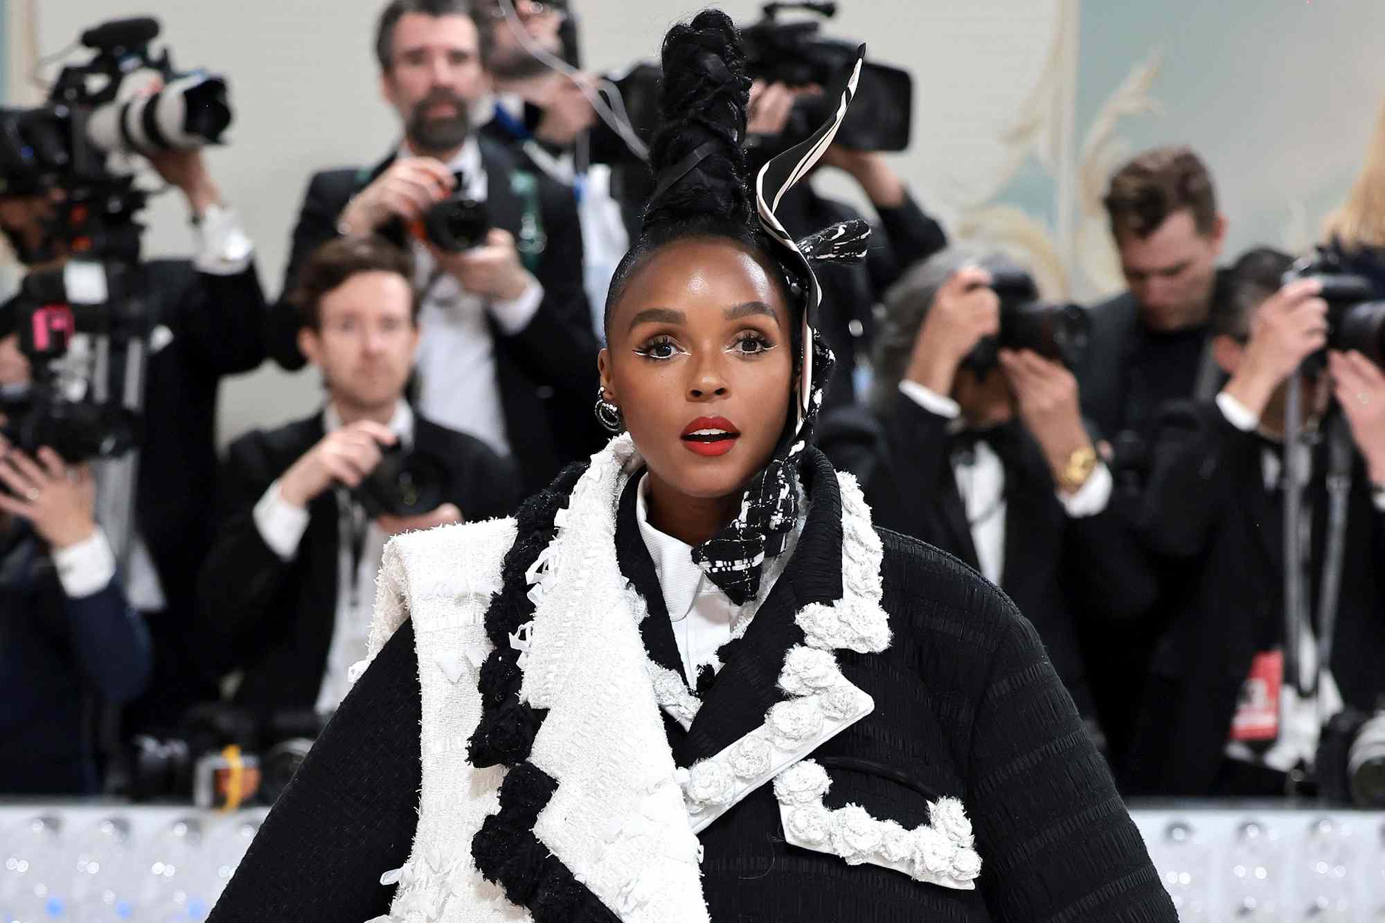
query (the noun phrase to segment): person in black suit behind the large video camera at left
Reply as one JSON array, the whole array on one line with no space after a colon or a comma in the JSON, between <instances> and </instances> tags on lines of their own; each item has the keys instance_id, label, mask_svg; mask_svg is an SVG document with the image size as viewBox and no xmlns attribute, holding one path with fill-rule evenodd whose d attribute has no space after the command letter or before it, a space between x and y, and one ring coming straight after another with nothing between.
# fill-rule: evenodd
<instances>
[{"instance_id":1,"label":"person in black suit behind the large video camera at left","mask_svg":"<svg viewBox=\"0 0 1385 923\"><path fill-rule=\"evenodd\" d=\"M197 254L143 266L151 330L143 434L136 452L93 467L97 521L154 643L150 692L126 710L126 725L161 733L173 730L188 705L216 694L195 668L188 635L197 570L212 539L216 402L226 376L265 359L266 304L251 241L201 152L165 151L148 161L187 200ZM0 197L0 229L29 267L66 259L66 243L51 233L51 213L47 190ZM0 340L0 385L24 388L30 377L17 337Z\"/></svg>"}]
</instances>

